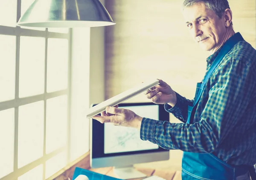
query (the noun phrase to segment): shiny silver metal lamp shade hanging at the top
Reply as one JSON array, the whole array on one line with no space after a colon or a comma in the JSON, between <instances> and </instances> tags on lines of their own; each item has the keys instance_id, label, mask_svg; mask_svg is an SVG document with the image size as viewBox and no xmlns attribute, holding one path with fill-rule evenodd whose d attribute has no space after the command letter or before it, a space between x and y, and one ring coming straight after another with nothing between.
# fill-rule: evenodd
<instances>
[{"instance_id":1,"label":"shiny silver metal lamp shade hanging at the top","mask_svg":"<svg viewBox=\"0 0 256 180\"><path fill-rule=\"evenodd\" d=\"M76 28L114 25L99 0L35 0L17 25L43 28Z\"/></svg>"}]
</instances>

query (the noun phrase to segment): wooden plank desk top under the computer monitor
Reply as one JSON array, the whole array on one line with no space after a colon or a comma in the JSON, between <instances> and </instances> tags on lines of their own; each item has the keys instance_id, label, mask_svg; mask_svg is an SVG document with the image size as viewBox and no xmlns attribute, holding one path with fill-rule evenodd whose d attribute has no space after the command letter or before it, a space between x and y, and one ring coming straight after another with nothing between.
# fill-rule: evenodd
<instances>
[{"instance_id":1,"label":"wooden plank desk top under the computer monitor","mask_svg":"<svg viewBox=\"0 0 256 180\"><path fill-rule=\"evenodd\" d=\"M90 171L97 172L100 174L105 174L111 177L116 177L113 172L113 167L106 167L106 168L96 168L96 169L89 169ZM152 175L156 175L159 177L163 177L166 180L181 180L181 172L180 171L172 171L172 170L163 170L163 169L137 169L144 174L147 174L148 177ZM118 178L118 177L116 177ZM133 179L133 180L142 180L143 178Z\"/></svg>"}]
</instances>

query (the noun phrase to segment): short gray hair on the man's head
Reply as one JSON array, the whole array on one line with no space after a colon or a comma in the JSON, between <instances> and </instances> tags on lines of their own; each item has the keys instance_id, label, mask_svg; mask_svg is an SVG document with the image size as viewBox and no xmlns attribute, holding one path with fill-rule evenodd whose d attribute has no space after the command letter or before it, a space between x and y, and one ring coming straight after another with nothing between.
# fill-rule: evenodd
<instances>
[{"instance_id":1,"label":"short gray hair on the man's head","mask_svg":"<svg viewBox=\"0 0 256 180\"><path fill-rule=\"evenodd\" d=\"M195 3L204 3L208 9L215 12L219 19L221 19L225 9L230 9L227 0L184 0L183 9L193 6Z\"/></svg>"}]
</instances>

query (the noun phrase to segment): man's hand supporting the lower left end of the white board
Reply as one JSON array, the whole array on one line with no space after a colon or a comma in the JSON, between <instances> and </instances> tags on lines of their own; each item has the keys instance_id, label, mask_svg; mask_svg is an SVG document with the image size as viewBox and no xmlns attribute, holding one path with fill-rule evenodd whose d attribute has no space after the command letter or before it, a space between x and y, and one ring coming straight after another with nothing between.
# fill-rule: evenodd
<instances>
[{"instance_id":1,"label":"man's hand supporting the lower left end of the white board","mask_svg":"<svg viewBox=\"0 0 256 180\"><path fill-rule=\"evenodd\" d=\"M93 119L101 123L113 123L117 126L134 127L140 129L142 117L131 110L106 107L106 110L100 115L93 116Z\"/></svg>"}]
</instances>

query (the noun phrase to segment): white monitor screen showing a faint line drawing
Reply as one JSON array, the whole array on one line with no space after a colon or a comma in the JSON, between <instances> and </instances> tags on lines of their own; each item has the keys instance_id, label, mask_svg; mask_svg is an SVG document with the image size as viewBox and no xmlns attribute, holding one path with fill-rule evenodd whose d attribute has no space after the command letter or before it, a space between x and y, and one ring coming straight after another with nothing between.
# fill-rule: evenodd
<instances>
[{"instance_id":1,"label":"white monitor screen showing a faint line drawing","mask_svg":"<svg viewBox=\"0 0 256 180\"><path fill-rule=\"evenodd\" d=\"M122 107L120 107L122 108ZM126 106L141 117L158 120L158 105ZM114 126L111 123L104 124L104 153L132 152L148 149L158 149L158 145L140 139L140 131L131 127Z\"/></svg>"}]
</instances>

